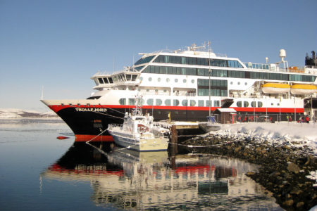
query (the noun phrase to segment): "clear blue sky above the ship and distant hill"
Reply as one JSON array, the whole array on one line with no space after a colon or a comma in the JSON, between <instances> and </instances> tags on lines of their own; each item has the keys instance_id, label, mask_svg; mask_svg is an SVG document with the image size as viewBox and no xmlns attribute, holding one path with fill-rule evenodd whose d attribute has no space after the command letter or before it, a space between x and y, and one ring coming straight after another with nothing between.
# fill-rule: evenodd
<instances>
[{"instance_id":1,"label":"clear blue sky above the ship and distant hill","mask_svg":"<svg viewBox=\"0 0 317 211\"><path fill-rule=\"evenodd\" d=\"M137 53L211 41L242 62L304 66L317 51L316 0L0 0L0 108L44 110L44 98L87 98L90 77Z\"/></svg>"}]
</instances>

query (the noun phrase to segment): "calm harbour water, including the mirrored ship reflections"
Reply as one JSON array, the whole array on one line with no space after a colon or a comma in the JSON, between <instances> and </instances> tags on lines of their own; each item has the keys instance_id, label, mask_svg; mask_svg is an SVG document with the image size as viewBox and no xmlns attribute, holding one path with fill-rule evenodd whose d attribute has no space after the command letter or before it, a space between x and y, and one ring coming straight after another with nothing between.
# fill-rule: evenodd
<instances>
[{"instance_id":1,"label":"calm harbour water, including the mirrored ship reflections","mask_svg":"<svg viewBox=\"0 0 317 211\"><path fill-rule=\"evenodd\" d=\"M0 120L0 145L0 210L282 210L241 160L74 144L58 120Z\"/></svg>"}]
</instances>

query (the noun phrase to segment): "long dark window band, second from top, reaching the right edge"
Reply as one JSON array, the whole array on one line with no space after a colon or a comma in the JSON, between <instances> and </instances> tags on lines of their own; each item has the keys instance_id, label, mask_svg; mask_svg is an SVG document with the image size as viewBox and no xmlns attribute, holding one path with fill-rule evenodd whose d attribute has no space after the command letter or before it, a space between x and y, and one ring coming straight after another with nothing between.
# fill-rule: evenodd
<instances>
[{"instance_id":1,"label":"long dark window band, second from top, reaching the right edge","mask_svg":"<svg viewBox=\"0 0 317 211\"><path fill-rule=\"evenodd\" d=\"M242 70L214 70L209 72L209 69L202 68L180 68L180 67L166 67L149 65L142 72L168 74L168 75L199 75L212 77L235 77L235 78L249 78L249 79L271 79L271 80L285 80L297 82L315 82L314 75L294 75L288 73L275 72L254 72Z\"/></svg>"}]
</instances>

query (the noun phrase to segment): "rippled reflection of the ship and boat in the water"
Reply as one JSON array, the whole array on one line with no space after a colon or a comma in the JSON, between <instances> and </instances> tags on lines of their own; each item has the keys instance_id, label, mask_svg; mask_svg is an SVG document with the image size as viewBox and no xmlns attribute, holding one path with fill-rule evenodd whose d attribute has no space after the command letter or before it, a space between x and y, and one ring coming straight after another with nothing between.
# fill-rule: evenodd
<instances>
[{"instance_id":1,"label":"rippled reflection of the ship and boat in the water","mask_svg":"<svg viewBox=\"0 0 317 211\"><path fill-rule=\"evenodd\" d=\"M104 152L104 153L102 153ZM74 143L42 176L90 181L97 206L163 210L282 210L245 176L256 166L213 155L168 155Z\"/></svg>"}]
</instances>

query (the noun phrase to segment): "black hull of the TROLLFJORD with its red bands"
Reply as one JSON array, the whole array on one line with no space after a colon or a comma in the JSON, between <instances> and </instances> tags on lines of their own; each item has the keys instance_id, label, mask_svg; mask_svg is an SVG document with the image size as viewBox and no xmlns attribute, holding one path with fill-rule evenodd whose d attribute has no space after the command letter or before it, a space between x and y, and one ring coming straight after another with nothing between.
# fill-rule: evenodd
<instances>
[{"instance_id":1,"label":"black hull of the TROLLFJORD with its red bands","mask_svg":"<svg viewBox=\"0 0 317 211\"><path fill-rule=\"evenodd\" d=\"M75 141L113 141L111 134L106 130L108 124L123 124L125 112L130 112L134 106L49 106L56 114L63 119L68 127L75 134ZM209 107L185 107L185 106L143 106L144 114L152 113L154 120L173 121L199 121L206 122L209 115ZM211 112L219 107L211 107ZM282 120L286 117L283 114L296 112L297 115L304 113L304 108L234 108L237 115L272 115L277 118L282 113ZM276 119L275 119L276 120ZM294 118L293 118L294 120Z\"/></svg>"}]
</instances>

